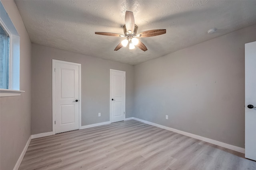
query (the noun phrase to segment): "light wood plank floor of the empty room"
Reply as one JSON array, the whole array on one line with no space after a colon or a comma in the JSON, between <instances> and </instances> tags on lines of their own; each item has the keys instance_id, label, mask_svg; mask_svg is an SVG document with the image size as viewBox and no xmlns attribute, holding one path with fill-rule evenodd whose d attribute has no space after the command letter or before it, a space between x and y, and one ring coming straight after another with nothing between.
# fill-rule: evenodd
<instances>
[{"instance_id":1,"label":"light wood plank floor of the empty room","mask_svg":"<svg viewBox=\"0 0 256 170\"><path fill-rule=\"evenodd\" d=\"M19 170L256 170L244 154L136 120L32 139Z\"/></svg>"}]
</instances>

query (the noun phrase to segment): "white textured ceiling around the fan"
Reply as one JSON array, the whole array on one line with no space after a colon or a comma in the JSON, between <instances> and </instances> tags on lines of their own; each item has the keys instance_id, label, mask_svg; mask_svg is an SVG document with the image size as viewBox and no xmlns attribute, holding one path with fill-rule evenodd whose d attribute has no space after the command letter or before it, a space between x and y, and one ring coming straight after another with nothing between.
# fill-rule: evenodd
<instances>
[{"instance_id":1,"label":"white textured ceiling around the fan","mask_svg":"<svg viewBox=\"0 0 256 170\"><path fill-rule=\"evenodd\" d=\"M256 24L256 0L17 0L16 4L32 43L132 65ZM166 34L140 38L146 52L128 47L114 51L124 38L94 32L123 34L126 10L134 13L138 33L166 29ZM208 35L214 27L218 31Z\"/></svg>"}]
</instances>

